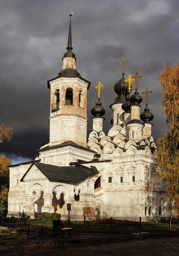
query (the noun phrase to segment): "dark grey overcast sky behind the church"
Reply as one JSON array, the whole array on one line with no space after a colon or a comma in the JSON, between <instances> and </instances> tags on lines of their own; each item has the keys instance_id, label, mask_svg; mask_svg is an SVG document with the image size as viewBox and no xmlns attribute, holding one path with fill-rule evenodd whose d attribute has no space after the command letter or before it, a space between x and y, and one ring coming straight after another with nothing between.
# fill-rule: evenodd
<instances>
[{"instance_id":1,"label":"dark grey overcast sky behind the church","mask_svg":"<svg viewBox=\"0 0 179 256\"><path fill-rule=\"evenodd\" d=\"M70 5L72 46L80 75L91 81L88 90L88 135L95 86L101 80L106 108L103 130L111 128L109 105L115 83L136 72L142 75L138 92L152 90L148 106L154 114L155 142L167 131L158 75L165 58L175 67L179 49L178 0L0 0L1 123L12 127L11 142L1 143L12 164L33 160L49 141L50 90L66 52ZM143 96L143 95L142 95ZM145 108L145 97L141 111ZM102 104L103 105L103 104Z\"/></svg>"}]
</instances>

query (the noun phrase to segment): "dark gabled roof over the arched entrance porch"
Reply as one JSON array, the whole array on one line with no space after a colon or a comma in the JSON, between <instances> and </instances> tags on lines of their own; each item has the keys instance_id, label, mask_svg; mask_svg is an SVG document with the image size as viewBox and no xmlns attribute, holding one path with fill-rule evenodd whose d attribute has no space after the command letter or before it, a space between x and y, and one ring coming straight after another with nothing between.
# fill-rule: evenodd
<instances>
[{"instance_id":1,"label":"dark gabled roof over the arched entrance porch","mask_svg":"<svg viewBox=\"0 0 179 256\"><path fill-rule=\"evenodd\" d=\"M86 167L83 165L79 166L56 166L56 165L49 165L44 163L34 162L26 173L21 178L21 181L24 180L26 174L29 172L31 167L36 165L38 169L49 179L49 180L56 180L59 182L64 183L76 183L86 179L91 175L95 175L98 172L96 167L91 166Z\"/></svg>"}]
</instances>

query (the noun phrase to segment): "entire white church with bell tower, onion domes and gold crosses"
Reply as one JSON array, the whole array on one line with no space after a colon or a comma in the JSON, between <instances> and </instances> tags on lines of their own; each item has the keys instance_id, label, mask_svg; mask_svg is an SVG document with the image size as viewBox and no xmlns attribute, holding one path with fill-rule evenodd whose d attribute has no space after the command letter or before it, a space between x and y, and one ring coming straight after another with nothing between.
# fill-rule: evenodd
<instances>
[{"instance_id":1,"label":"entire white church with bell tower, onion domes and gold crosses","mask_svg":"<svg viewBox=\"0 0 179 256\"><path fill-rule=\"evenodd\" d=\"M70 15L71 16L71 15ZM151 135L153 114L142 114L136 73L115 84L110 105L112 128L105 135L105 109L98 100L91 110L92 132L87 139L87 90L90 82L76 68L71 45L71 17L67 52L59 74L48 81L50 89L49 143L37 150L34 161L11 165L8 211L83 214L92 207L96 215L159 216L174 213L162 192L157 172L157 149ZM146 96L148 91L146 90ZM147 97L146 97L147 98Z\"/></svg>"}]
</instances>

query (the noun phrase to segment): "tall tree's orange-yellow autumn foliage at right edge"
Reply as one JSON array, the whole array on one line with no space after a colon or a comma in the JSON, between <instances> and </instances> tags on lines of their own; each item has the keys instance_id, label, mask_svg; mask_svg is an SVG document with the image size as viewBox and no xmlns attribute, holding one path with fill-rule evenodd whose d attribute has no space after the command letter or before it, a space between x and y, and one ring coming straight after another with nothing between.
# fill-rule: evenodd
<instances>
[{"instance_id":1,"label":"tall tree's orange-yellow autumn foliage at right edge","mask_svg":"<svg viewBox=\"0 0 179 256\"><path fill-rule=\"evenodd\" d=\"M167 115L169 131L158 143L158 170L167 187L171 202L179 215L179 65L175 68L165 63L165 71L159 75L163 93L163 110Z\"/></svg>"}]
</instances>

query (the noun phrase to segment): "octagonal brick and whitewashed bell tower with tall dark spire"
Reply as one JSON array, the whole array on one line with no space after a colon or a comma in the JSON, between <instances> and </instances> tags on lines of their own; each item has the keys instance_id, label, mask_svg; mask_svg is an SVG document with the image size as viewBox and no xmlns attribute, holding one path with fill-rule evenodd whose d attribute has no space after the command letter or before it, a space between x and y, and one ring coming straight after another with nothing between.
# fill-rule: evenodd
<instances>
[{"instance_id":1,"label":"octagonal brick and whitewashed bell tower with tall dark spire","mask_svg":"<svg viewBox=\"0 0 179 256\"><path fill-rule=\"evenodd\" d=\"M76 58L72 49L70 14L68 46L62 58L62 70L57 77L48 81L50 146L72 141L86 147L86 104L90 82L82 78L76 70Z\"/></svg>"}]
</instances>

